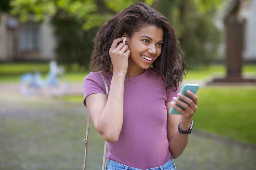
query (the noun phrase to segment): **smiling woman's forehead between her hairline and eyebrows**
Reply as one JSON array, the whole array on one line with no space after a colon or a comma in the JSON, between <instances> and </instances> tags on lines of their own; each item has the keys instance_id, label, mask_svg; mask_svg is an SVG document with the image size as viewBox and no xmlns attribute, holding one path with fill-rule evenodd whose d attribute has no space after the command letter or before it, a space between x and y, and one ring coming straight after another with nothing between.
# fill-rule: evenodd
<instances>
[{"instance_id":1,"label":"smiling woman's forehead between her hairline and eyebrows","mask_svg":"<svg viewBox=\"0 0 256 170\"><path fill-rule=\"evenodd\" d=\"M162 28L158 28L153 25L142 27L140 30L133 33L133 37L140 38L141 36L149 36L153 41L161 41L164 37L164 31Z\"/></svg>"}]
</instances>

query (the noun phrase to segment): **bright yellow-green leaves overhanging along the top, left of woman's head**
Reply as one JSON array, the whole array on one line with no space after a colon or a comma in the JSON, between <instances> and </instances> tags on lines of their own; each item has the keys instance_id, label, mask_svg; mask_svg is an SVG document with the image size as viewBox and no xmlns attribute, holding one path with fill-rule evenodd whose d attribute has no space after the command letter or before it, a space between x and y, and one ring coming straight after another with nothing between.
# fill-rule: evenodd
<instances>
[{"instance_id":1,"label":"bright yellow-green leaves overhanging along the top, left of woman's head","mask_svg":"<svg viewBox=\"0 0 256 170\"><path fill-rule=\"evenodd\" d=\"M156 0L145 0L152 5ZM58 11L64 11L69 16L82 21L84 30L99 27L115 13L122 11L138 0L12 0L13 15L20 15L20 20L28 20L29 14L34 14L36 21L54 17Z\"/></svg>"}]
</instances>

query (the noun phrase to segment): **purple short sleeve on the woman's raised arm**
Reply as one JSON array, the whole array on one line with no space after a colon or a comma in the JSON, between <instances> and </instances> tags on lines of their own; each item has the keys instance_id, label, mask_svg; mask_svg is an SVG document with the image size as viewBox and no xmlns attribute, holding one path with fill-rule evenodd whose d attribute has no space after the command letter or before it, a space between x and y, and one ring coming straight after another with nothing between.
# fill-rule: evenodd
<instances>
[{"instance_id":1,"label":"purple short sleeve on the woman's raised arm","mask_svg":"<svg viewBox=\"0 0 256 170\"><path fill-rule=\"evenodd\" d=\"M83 104L86 106L85 99L87 96L93 93L104 93L105 92L105 86L102 79L99 79L95 72L90 72L84 80L83 80ZM99 74L100 76L100 74ZM101 81L100 81L101 80ZM104 88L103 88L104 87Z\"/></svg>"}]
</instances>

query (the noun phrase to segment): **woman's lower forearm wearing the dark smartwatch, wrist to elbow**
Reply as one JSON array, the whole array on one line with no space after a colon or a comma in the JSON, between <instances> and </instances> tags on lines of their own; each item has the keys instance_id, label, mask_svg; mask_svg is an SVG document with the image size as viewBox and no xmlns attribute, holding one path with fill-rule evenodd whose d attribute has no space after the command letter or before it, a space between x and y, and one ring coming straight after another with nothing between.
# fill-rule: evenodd
<instances>
[{"instance_id":1,"label":"woman's lower forearm wearing the dark smartwatch, wrist to elbow","mask_svg":"<svg viewBox=\"0 0 256 170\"><path fill-rule=\"evenodd\" d=\"M191 124L180 124L180 127L183 130L188 130L190 125ZM179 157L186 148L188 143L188 135L189 134L180 134L177 128L177 133L169 141L169 148L173 158Z\"/></svg>"}]
</instances>

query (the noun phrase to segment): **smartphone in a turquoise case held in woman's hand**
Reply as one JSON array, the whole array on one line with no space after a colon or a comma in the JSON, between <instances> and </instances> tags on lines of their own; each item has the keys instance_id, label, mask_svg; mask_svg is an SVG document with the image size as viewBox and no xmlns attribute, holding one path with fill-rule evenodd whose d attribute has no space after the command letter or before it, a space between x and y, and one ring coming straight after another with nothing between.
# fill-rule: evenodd
<instances>
[{"instance_id":1,"label":"smartphone in a turquoise case held in woman's hand","mask_svg":"<svg viewBox=\"0 0 256 170\"><path fill-rule=\"evenodd\" d=\"M196 94L197 90L199 89L199 85L198 84L184 84L184 86L182 87L182 89L180 90L180 93L187 96L188 98L192 99L188 94L187 94L187 90L192 91L192 93ZM184 100L180 99L179 96L177 97L177 99L185 102ZM179 108L182 108L183 110L185 110L182 106L180 106L179 104L177 104L176 102L174 102ZM169 111L170 114L181 114L180 112L178 112L176 109L174 109L173 107L170 109Z\"/></svg>"}]
</instances>

